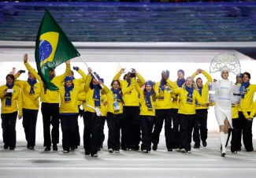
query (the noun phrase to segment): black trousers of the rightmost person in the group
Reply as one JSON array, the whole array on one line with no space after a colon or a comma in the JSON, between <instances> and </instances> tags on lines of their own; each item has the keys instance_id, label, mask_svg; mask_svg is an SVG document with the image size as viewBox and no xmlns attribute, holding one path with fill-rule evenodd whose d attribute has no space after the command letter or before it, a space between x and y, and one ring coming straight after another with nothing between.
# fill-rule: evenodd
<instances>
[{"instance_id":1,"label":"black trousers of the rightmost person in the group","mask_svg":"<svg viewBox=\"0 0 256 178\"><path fill-rule=\"evenodd\" d=\"M247 112L250 115L250 112ZM253 121L248 121L247 118L243 116L243 113L239 111L239 119L242 121L242 133L243 133L243 145L247 151L254 150L252 144L252 123Z\"/></svg>"}]
</instances>

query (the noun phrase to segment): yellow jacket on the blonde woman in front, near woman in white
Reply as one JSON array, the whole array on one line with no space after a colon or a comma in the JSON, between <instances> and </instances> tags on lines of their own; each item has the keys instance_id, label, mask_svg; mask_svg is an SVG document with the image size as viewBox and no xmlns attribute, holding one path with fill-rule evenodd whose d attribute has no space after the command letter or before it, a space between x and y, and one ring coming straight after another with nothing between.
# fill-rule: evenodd
<instances>
[{"instance_id":1,"label":"yellow jacket on the blonde woman in front, near woman in white","mask_svg":"<svg viewBox=\"0 0 256 178\"><path fill-rule=\"evenodd\" d=\"M196 90L193 91L193 102L191 104L187 103L188 92L184 88L179 87L179 88L173 89L172 92L173 94L180 96L178 113L187 114L187 115L195 114L195 100L197 100L198 103L202 106L206 104L205 102L203 102L202 97Z\"/></svg>"}]
</instances>

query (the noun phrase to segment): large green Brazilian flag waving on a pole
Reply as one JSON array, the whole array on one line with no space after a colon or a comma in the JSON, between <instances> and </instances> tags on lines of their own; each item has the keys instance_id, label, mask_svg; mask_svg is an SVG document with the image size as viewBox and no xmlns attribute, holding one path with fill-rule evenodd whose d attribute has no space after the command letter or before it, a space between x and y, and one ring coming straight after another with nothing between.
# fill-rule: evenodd
<instances>
[{"instance_id":1,"label":"large green Brazilian flag waving on a pole","mask_svg":"<svg viewBox=\"0 0 256 178\"><path fill-rule=\"evenodd\" d=\"M80 56L54 17L45 10L35 41L35 62L39 76L50 91L58 90L50 82L49 72L65 61Z\"/></svg>"}]
</instances>

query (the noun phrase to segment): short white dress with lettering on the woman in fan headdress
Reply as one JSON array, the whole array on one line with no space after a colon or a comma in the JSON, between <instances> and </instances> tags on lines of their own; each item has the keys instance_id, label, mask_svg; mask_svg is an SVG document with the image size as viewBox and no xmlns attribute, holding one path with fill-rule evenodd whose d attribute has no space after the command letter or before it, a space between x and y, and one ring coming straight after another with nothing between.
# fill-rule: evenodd
<instances>
[{"instance_id":1,"label":"short white dress with lettering on the woman in fan headdress","mask_svg":"<svg viewBox=\"0 0 256 178\"><path fill-rule=\"evenodd\" d=\"M227 117L229 127L232 127L232 86L234 83L229 80L220 80L215 83L215 116L219 126L224 125L224 119Z\"/></svg>"}]
</instances>

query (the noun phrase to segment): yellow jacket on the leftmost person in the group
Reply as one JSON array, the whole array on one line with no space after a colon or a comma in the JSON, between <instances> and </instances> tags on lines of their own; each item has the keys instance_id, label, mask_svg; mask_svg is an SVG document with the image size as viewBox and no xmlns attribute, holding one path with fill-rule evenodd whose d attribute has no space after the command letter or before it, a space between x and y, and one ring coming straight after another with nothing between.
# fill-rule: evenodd
<instances>
[{"instance_id":1,"label":"yellow jacket on the leftmost person in the group","mask_svg":"<svg viewBox=\"0 0 256 178\"><path fill-rule=\"evenodd\" d=\"M8 89L6 85L2 85L0 87L0 98L1 98L1 113L13 113L19 110L18 115L22 116L22 97L20 92L20 87L18 87L15 83L13 86L13 95L12 95L12 105L6 106L6 96L5 91Z\"/></svg>"}]
</instances>

